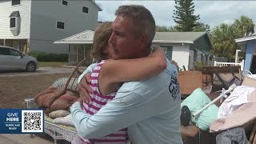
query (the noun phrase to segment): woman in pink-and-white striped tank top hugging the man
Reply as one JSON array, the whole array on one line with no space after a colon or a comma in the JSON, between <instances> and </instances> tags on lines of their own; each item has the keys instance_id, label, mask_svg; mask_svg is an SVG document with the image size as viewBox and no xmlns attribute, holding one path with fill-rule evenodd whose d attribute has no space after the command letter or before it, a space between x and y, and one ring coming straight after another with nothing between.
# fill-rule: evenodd
<instances>
[{"instance_id":1,"label":"woman in pink-and-white striped tank top hugging the man","mask_svg":"<svg viewBox=\"0 0 256 144\"><path fill-rule=\"evenodd\" d=\"M112 34L111 23L103 22L94 33L92 55L98 62L91 74L90 86L94 92L91 94L90 102L84 102L82 105L83 110L90 115L96 114L102 106L113 99L123 82L150 78L166 69L166 56L162 50L155 50L148 58L110 60L108 39ZM123 128L104 138L80 137L75 138L72 143L126 144L127 137L127 128Z\"/></svg>"}]
</instances>

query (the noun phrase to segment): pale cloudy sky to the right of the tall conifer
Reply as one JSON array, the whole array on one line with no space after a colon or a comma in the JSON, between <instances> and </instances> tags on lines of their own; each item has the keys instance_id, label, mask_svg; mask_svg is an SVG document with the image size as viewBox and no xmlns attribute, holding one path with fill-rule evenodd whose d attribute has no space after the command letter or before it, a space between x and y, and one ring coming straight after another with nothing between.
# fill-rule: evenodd
<instances>
[{"instance_id":1,"label":"pale cloudy sky to the right of the tall conifer","mask_svg":"<svg viewBox=\"0 0 256 144\"><path fill-rule=\"evenodd\" d=\"M196 1L195 6L201 21L211 27L221 22L232 23L242 15L253 18L256 22L254 14L256 2L253 1Z\"/></svg>"}]
</instances>

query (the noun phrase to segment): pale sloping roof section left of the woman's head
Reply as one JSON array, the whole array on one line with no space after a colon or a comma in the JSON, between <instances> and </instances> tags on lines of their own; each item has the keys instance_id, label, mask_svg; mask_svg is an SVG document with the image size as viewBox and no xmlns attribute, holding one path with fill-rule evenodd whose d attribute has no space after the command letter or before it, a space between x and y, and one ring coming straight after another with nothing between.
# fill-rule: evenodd
<instances>
[{"instance_id":1,"label":"pale sloping roof section left of the woman's head","mask_svg":"<svg viewBox=\"0 0 256 144\"><path fill-rule=\"evenodd\" d=\"M68 38L64 38L54 43L73 43L73 44L92 44L94 39L94 31L86 30L79 34L74 34Z\"/></svg>"}]
</instances>

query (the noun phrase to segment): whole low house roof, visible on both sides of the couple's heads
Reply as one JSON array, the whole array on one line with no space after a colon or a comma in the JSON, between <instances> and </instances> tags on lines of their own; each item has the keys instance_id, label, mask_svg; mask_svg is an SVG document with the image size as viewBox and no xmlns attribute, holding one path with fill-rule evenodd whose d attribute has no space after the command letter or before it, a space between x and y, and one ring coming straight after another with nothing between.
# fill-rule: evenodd
<instances>
[{"instance_id":1,"label":"whole low house roof, visible on both sides of the couple's heads","mask_svg":"<svg viewBox=\"0 0 256 144\"><path fill-rule=\"evenodd\" d=\"M191 43L207 34L206 32L156 32L153 42L159 43ZM86 30L54 43L92 44L94 31Z\"/></svg>"}]
</instances>

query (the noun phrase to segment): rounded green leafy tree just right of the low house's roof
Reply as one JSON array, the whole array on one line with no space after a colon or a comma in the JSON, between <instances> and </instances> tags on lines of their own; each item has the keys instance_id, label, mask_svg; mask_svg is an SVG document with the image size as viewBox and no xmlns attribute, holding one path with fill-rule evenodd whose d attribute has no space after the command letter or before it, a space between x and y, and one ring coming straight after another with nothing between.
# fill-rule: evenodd
<instances>
[{"instance_id":1,"label":"rounded green leafy tree just right of the low house's roof","mask_svg":"<svg viewBox=\"0 0 256 144\"><path fill-rule=\"evenodd\" d=\"M233 25L222 23L215 26L210 33L213 45L212 52L218 57L234 58L235 50L238 48L234 41L236 31Z\"/></svg>"}]
</instances>

